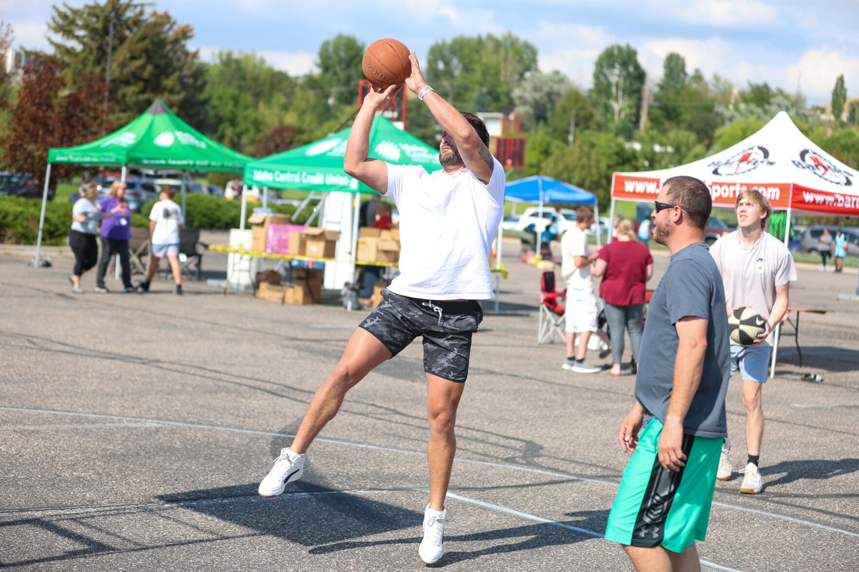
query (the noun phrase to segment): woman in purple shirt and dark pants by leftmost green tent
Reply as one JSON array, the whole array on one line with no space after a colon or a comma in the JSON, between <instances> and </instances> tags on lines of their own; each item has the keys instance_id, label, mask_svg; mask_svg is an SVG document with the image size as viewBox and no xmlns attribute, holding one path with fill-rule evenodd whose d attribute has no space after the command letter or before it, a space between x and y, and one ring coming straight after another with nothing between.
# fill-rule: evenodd
<instances>
[{"instance_id":1,"label":"woman in purple shirt and dark pants by leftmost green tent","mask_svg":"<svg viewBox=\"0 0 859 572\"><path fill-rule=\"evenodd\" d=\"M119 254L119 264L122 265L122 283L124 292L133 292L131 285L131 263L128 258L128 240L131 239L131 209L125 202L125 183L113 181L107 197L99 201L97 207L107 214L101 221L101 259L99 270L95 275L95 291L107 292L105 287L105 271L113 253Z\"/></svg>"}]
</instances>

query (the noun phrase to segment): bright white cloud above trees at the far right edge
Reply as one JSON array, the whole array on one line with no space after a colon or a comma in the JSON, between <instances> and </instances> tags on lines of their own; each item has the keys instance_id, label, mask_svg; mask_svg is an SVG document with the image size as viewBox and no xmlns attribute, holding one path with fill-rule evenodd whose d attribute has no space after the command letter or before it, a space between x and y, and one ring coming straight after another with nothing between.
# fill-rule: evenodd
<instances>
[{"instance_id":1,"label":"bright white cloud above trees at the far right edge","mask_svg":"<svg viewBox=\"0 0 859 572\"><path fill-rule=\"evenodd\" d=\"M801 81L801 89L809 101L825 102L832 97L832 88L838 76L844 74L847 94L859 94L859 57L856 54L831 52L824 49L807 50L798 62L790 64L787 70L788 81L796 85Z\"/></svg>"}]
</instances>

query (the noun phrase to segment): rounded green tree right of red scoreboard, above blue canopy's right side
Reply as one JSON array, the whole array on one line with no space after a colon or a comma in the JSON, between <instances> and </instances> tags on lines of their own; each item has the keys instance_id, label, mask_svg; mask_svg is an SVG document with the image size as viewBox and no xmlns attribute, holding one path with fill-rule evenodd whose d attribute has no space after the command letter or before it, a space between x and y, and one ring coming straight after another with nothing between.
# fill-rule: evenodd
<instances>
[{"instance_id":1,"label":"rounded green tree right of red scoreboard, above blue canopy's right side","mask_svg":"<svg viewBox=\"0 0 859 572\"><path fill-rule=\"evenodd\" d=\"M611 200L611 171L600 154L581 141L553 153L543 163L542 174L593 192L603 208Z\"/></svg>"}]
</instances>

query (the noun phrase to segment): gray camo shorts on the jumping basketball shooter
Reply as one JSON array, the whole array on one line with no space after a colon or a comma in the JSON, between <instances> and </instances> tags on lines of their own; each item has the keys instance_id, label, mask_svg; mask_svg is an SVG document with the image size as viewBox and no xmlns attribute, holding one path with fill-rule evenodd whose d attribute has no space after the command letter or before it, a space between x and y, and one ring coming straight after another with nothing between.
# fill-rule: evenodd
<instances>
[{"instance_id":1,"label":"gray camo shorts on the jumping basketball shooter","mask_svg":"<svg viewBox=\"0 0 859 572\"><path fill-rule=\"evenodd\" d=\"M432 301L381 291L382 301L360 326L396 356L423 337L423 371L463 383L468 377L472 333L483 321L476 300Z\"/></svg>"}]
</instances>

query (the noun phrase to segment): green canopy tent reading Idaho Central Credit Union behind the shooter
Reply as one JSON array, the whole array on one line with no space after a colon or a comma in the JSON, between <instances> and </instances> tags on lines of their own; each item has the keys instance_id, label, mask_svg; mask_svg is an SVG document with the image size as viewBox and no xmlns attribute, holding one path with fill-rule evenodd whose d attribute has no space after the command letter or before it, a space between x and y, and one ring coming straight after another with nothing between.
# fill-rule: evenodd
<instances>
[{"instance_id":1,"label":"green canopy tent reading Idaho Central Credit Union behind the shooter","mask_svg":"<svg viewBox=\"0 0 859 572\"><path fill-rule=\"evenodd\" d=\"M314 143L271 155L245 166L245 186L277 189L300 189L312 192L349 192L356 194L350 206L353 236L351 259L355 260L360 194L377 194L369 186L344 173L343 161L351 128L324 137ZM369 156L399 165L421 165L428 172L442 168L438 149L423 143L408 131L393 125L390 119L377 115L369 134ZM246 201L241 195L241 230L244 230Z\"/></svg>"}]
</instances>

